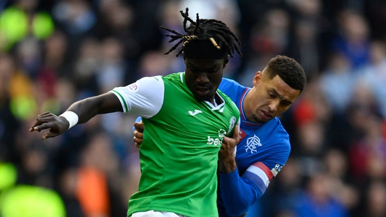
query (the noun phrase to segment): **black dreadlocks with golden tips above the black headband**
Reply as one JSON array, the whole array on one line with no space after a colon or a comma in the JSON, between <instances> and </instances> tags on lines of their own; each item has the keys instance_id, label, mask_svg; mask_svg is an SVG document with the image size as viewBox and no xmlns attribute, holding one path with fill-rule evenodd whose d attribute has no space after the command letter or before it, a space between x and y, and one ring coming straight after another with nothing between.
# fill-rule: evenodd
<instances>
[{"instance_id":1,"label":"black dreadlocks with golden tips above the black headband","mask_svg":"<svg viewBox=\"0 0 386 217\"><path fill-rule=\"evenodd\" d=\"M189 9L186 8L185 13L183 13L182 11L179 12L184 18L183 30L186 34L182 35L174 30L161 26L161 29L164 29L174 34L165 34L165 36L170 37L169 42L173 42L179 39L179 41L164 54L169 54L183 42L182 47L178 50L178 53L176 55L178 57L178 55L182 53L184 46L188 44L191 40L208 39L217 49L220 49L225 46L228 50L228 55L230 55L231 57L233 57L235 50L240 56L243 56L239 48L241 46L240 40L227 27L227 25L225 25L225 23L215 19L200 19L199 14L196 15L196 21L194 21L189 18L188 11ZM188 27L186 27L187 21L190 22L190 25Z\"/></svg>"}]
</instances>

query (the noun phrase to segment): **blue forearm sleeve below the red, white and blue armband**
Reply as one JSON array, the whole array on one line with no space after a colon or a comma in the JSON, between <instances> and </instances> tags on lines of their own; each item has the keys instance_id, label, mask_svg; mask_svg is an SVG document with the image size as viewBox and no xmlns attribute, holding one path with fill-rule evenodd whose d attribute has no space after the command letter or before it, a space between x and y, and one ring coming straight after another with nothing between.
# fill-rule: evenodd
<instances>
[{"instance_id":1,"label":"blue forearm sleeve below the red, white and blue armband","mask_svg":"<svg viewBox=\"0 0 386 217\"><path fill-rule=\"evenodd\" d=\"M230 216L247 212L263 194L251 180L240 177L238 169L231 173L219 173L219 179L221 197Z\"/></svg>"}]
</instances>

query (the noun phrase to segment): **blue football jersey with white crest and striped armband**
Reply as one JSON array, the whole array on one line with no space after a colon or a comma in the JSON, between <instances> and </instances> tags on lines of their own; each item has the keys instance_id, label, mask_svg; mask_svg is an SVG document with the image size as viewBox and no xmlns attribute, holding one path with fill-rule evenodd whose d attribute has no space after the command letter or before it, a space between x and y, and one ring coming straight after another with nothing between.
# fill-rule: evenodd
<instances>
[{"instance_id":1,"label":"blue football jersey with white crest and striped armband","mask_svg":"<svg viewBox=\"0 0 386 217\"><path fill-rule=\"evenodd\" d=\"M236 151L238 169L219 174L218 208L220 216L240 215L265 192L271 178L287 161L291 146L277 117L265 124L246 120L243 103L251 88L223 78L219 89L238 105L241 122Z\"/></svg>"}]
</instances>

